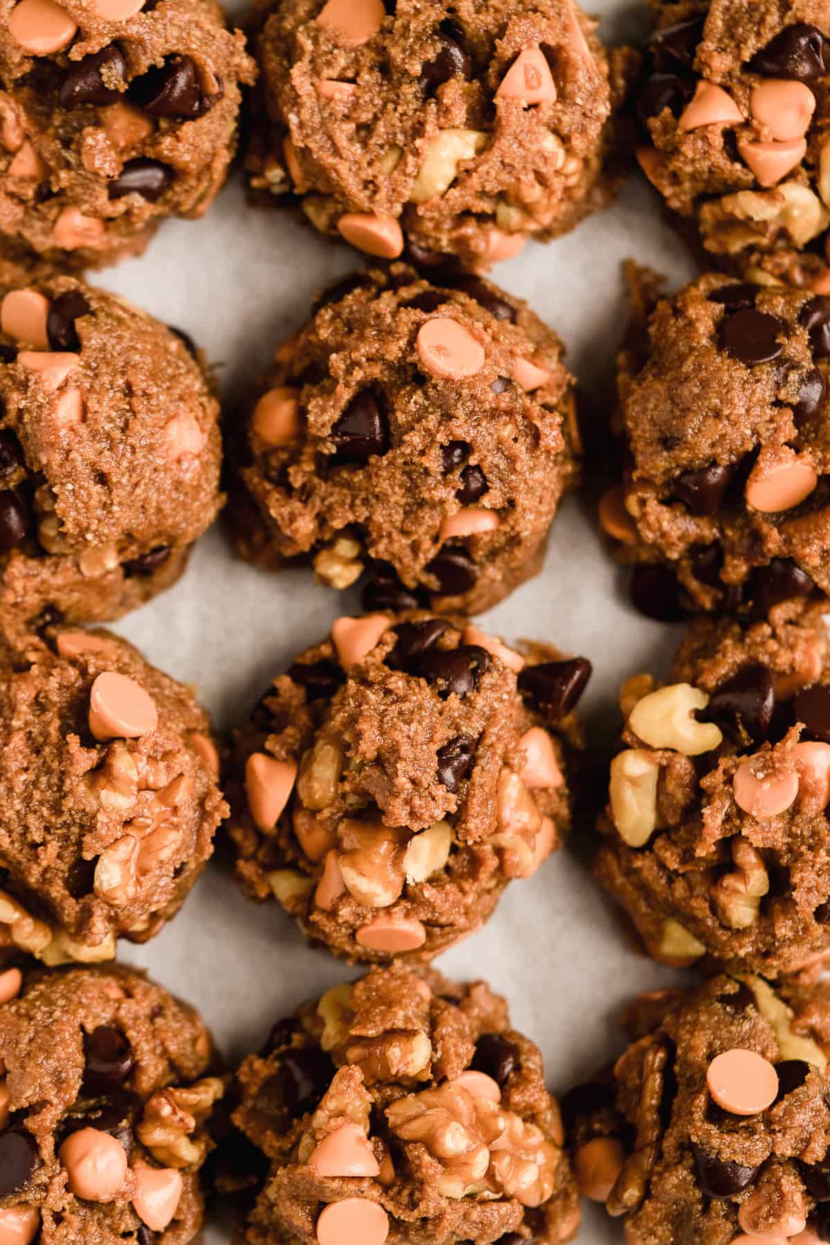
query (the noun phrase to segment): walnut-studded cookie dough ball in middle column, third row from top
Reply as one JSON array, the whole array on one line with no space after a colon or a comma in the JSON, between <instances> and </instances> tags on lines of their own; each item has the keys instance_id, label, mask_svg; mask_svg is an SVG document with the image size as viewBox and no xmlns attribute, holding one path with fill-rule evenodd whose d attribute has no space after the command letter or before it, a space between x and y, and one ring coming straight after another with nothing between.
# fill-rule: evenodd
<instances>
[{"instance_id":1,"label":"walnut-studded cookie dough ball in middle column, third row from top","mask_svg":"<svg viewBox=\"0 0 830 1245\"><path fill-rule=\"evenodd\" d=\"M569 827L590 672L426 613L338 619L238 735L245 890L352 960L429 960L472 934Z\"/></svg>"}]
</instances>

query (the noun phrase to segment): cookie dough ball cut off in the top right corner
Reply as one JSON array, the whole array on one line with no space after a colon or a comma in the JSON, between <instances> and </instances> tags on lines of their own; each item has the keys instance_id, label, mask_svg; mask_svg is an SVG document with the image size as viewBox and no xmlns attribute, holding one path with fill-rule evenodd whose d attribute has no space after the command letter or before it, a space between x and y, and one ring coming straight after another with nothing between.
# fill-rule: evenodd
<instances>
[{"instance_id":1,"label":"cookie dough ball cut off in the top right corner","mask_svg":"<svg viewBox=\"0 0 830 1245\"><path fill-rule=\"evenodd\" d=\"M640 164L706 250L830 294L826 0L651 2Z\"/></svg>"}]
</instances>

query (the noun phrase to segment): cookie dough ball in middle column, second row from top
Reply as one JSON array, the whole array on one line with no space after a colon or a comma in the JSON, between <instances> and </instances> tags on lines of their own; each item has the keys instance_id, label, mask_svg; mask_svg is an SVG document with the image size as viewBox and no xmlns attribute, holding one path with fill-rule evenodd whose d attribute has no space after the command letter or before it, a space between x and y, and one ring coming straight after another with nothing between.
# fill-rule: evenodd
<instances>
[{"instance_id":1,"label":"cookie dough ball in middle column, second row from top","mask_svg":"<svg viewBox=\"0 0 830 1245\"><path fill-rule=\"evenodd\" d=\"M394 264L330 290L276 351L244 432L240 553L310 558L333 588L367 570L367 609L488 609L540 569L575 483L561 354L470 274L428 283Z\"/></svg>"}]
</instances>

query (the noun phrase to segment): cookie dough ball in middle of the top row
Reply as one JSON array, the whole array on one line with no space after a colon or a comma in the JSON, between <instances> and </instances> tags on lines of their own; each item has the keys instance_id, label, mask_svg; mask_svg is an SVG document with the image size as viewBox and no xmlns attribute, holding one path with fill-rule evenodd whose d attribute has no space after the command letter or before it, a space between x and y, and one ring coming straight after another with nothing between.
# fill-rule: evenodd
<instances>
[{"instance_id":1,"label":"cookie dough ball in middle of the top row","mask_svg":"<svg viewBox=\"0 0 830 1245\"><path fill-rule=\"evenodd\" d=\"M595 26L572 0L264 0L251 186L385 259L488 266L565 233L611 194L622 70Z\"/></svg>"}]
</instances>

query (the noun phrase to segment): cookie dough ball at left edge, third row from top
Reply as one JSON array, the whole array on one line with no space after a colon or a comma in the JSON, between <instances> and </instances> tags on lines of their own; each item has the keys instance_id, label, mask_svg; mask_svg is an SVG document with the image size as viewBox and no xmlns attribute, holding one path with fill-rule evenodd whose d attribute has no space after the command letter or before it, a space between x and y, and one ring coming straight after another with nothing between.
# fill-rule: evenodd
<instances>
[{"instance_id":1,"label":"cookie dough ball at left edge, third row from top","mask_svg":"<svg viewBox=\"0 0 830 1245\"><path fill-rule=\"evenodd\" d=\"M226 806L207 713L106 631L0 654L0 933L107 960L184 903Z\"/></svg>"}]
</instances>

